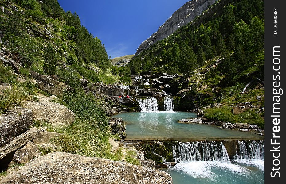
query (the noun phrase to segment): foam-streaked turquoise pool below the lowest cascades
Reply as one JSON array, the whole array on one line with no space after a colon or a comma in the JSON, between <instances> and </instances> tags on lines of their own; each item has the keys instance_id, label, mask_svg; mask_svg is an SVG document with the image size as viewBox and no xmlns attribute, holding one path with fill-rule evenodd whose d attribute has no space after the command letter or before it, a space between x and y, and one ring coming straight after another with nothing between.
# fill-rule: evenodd
<instances>
[{"instance_id":1,"label":"foam-streaked turquoise pool below the lowest cascades","mask_svg":"<svg viewBox=\"0 0 286 184\"><path fill-rule=\"evenodd\" d=\"M163 169L173 184L262 184L264 160L194 161Z\"/></svg>"}]
</instances>

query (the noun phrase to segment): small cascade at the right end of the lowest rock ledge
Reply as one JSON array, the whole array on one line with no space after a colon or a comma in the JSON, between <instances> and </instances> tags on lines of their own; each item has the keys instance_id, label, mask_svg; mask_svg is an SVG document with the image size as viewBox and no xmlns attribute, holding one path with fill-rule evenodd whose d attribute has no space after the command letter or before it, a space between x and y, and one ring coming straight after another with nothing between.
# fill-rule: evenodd
<instances>
[{"instance_id":1,"label":"small cascade at the right end of the lowest rock ledge","mask_svg":"<svg viewBox=\"0 0 286 184\"><path fill-rule=\"evenodd\" d=\"M238 141L237 154L233 159L264 160L264 140Z\"/></svg>"}]
</instances>

